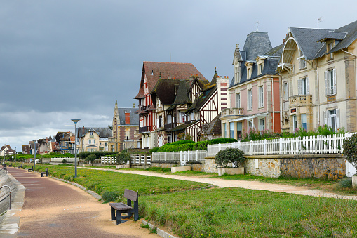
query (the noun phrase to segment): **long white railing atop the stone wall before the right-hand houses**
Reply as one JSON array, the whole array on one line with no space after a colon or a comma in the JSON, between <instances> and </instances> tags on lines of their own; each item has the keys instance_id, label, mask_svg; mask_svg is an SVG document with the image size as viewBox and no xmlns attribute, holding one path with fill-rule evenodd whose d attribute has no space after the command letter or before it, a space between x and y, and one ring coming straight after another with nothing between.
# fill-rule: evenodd
<instances>
[{"instance_id":1,"label":"long white railing atop the stone wall before the right-hand houses","mask_svg":"<svg viewBox=\"0 0 357 238\"><path fill-rule=\"evenodd\" d=\"M355 133L314 135L274 140L255 140L227 144L207 145L208 156L215 156L228 147L239 148L246 155L269 154L339 154L346 138Z\"/></svg>"}]
</instances>

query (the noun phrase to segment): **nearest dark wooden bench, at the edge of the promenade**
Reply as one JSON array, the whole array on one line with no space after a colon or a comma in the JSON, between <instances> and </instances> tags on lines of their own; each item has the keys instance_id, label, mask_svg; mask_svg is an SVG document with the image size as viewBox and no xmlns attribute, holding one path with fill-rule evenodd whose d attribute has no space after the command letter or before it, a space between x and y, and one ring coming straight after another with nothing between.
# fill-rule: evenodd
<instances>
[{"instance_id":1,"label":"nearest dark wooden bench, at the edge of the promenade","mask_svg":"<svg viewBox=\"0 0 357 238\"><path fill-rule=\"evenodd\" d=\"M139 220L139 201L137 192L132 190L125 190L124 197L127 200L127 204L119 203L109 203L111 206L112 220L116 220L116 225L124 223L128 220L121 220L121 218L130 218L134 213L134 220ZM134 208L131 206L131 201L134 201ZM115 216L116 211L116 216ZM121 216L121 213L127 213L127 216ZM133 219L132 219L133 220Z\"/></svg>"}]
</instances>

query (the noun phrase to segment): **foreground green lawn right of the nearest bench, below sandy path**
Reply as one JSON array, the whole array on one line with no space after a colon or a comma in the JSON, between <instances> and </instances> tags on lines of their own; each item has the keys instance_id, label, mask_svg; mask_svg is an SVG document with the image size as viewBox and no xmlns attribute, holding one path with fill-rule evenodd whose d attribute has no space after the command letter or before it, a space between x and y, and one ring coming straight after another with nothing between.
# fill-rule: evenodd
<instances>
[{"instance_id":1,"label":"foreground green lawn right of the nearest bench, below sandy path","mask_svg":"<svg viewBox=\"0 0 357 238\"><path fill-rule=\"evenodd\" d=\"M140 213L182 237L356 237L357 201L215 188L146 196Z\"/></svg>"}]
</instances>

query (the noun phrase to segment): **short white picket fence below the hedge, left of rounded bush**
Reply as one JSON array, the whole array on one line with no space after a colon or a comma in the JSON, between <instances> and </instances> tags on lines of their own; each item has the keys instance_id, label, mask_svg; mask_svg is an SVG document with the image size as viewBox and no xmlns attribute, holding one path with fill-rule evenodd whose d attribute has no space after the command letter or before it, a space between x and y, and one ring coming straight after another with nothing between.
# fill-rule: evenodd
<instances>
[{"instance_id":1,"label":"short white picket fence below the hedge, left of rounded bush","mask_svg":"<svg viewBox=\"0 0 357 238\"><path fill-rule=\"evenodd\" d=\"M189 161L205 161L205 157L207 157L207 150L152 153L152 161L180 161L181 165Z\"/></svg>"}]
</instances>

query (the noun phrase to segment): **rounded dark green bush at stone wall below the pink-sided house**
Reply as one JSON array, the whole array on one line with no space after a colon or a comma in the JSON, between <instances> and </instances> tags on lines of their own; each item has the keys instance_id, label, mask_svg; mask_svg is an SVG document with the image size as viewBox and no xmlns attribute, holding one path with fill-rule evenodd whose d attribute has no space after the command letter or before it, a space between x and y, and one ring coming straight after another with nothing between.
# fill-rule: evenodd
<instances>
[{"instance_id":1,"label":"rounded dark green bush at stone wall below the pink-sided house","mask_svg":"<svg viewBox=\"0 0 357 238\"><path fill-rule=\"evenodd\" d=\"M233 164L234 167L239 168L245 161L243 156L243 150L238 148L227 148L225 150L220 150L215 157L215 163L217 167L226 168L229 163Z\"/></svg>"}]
</instances>

